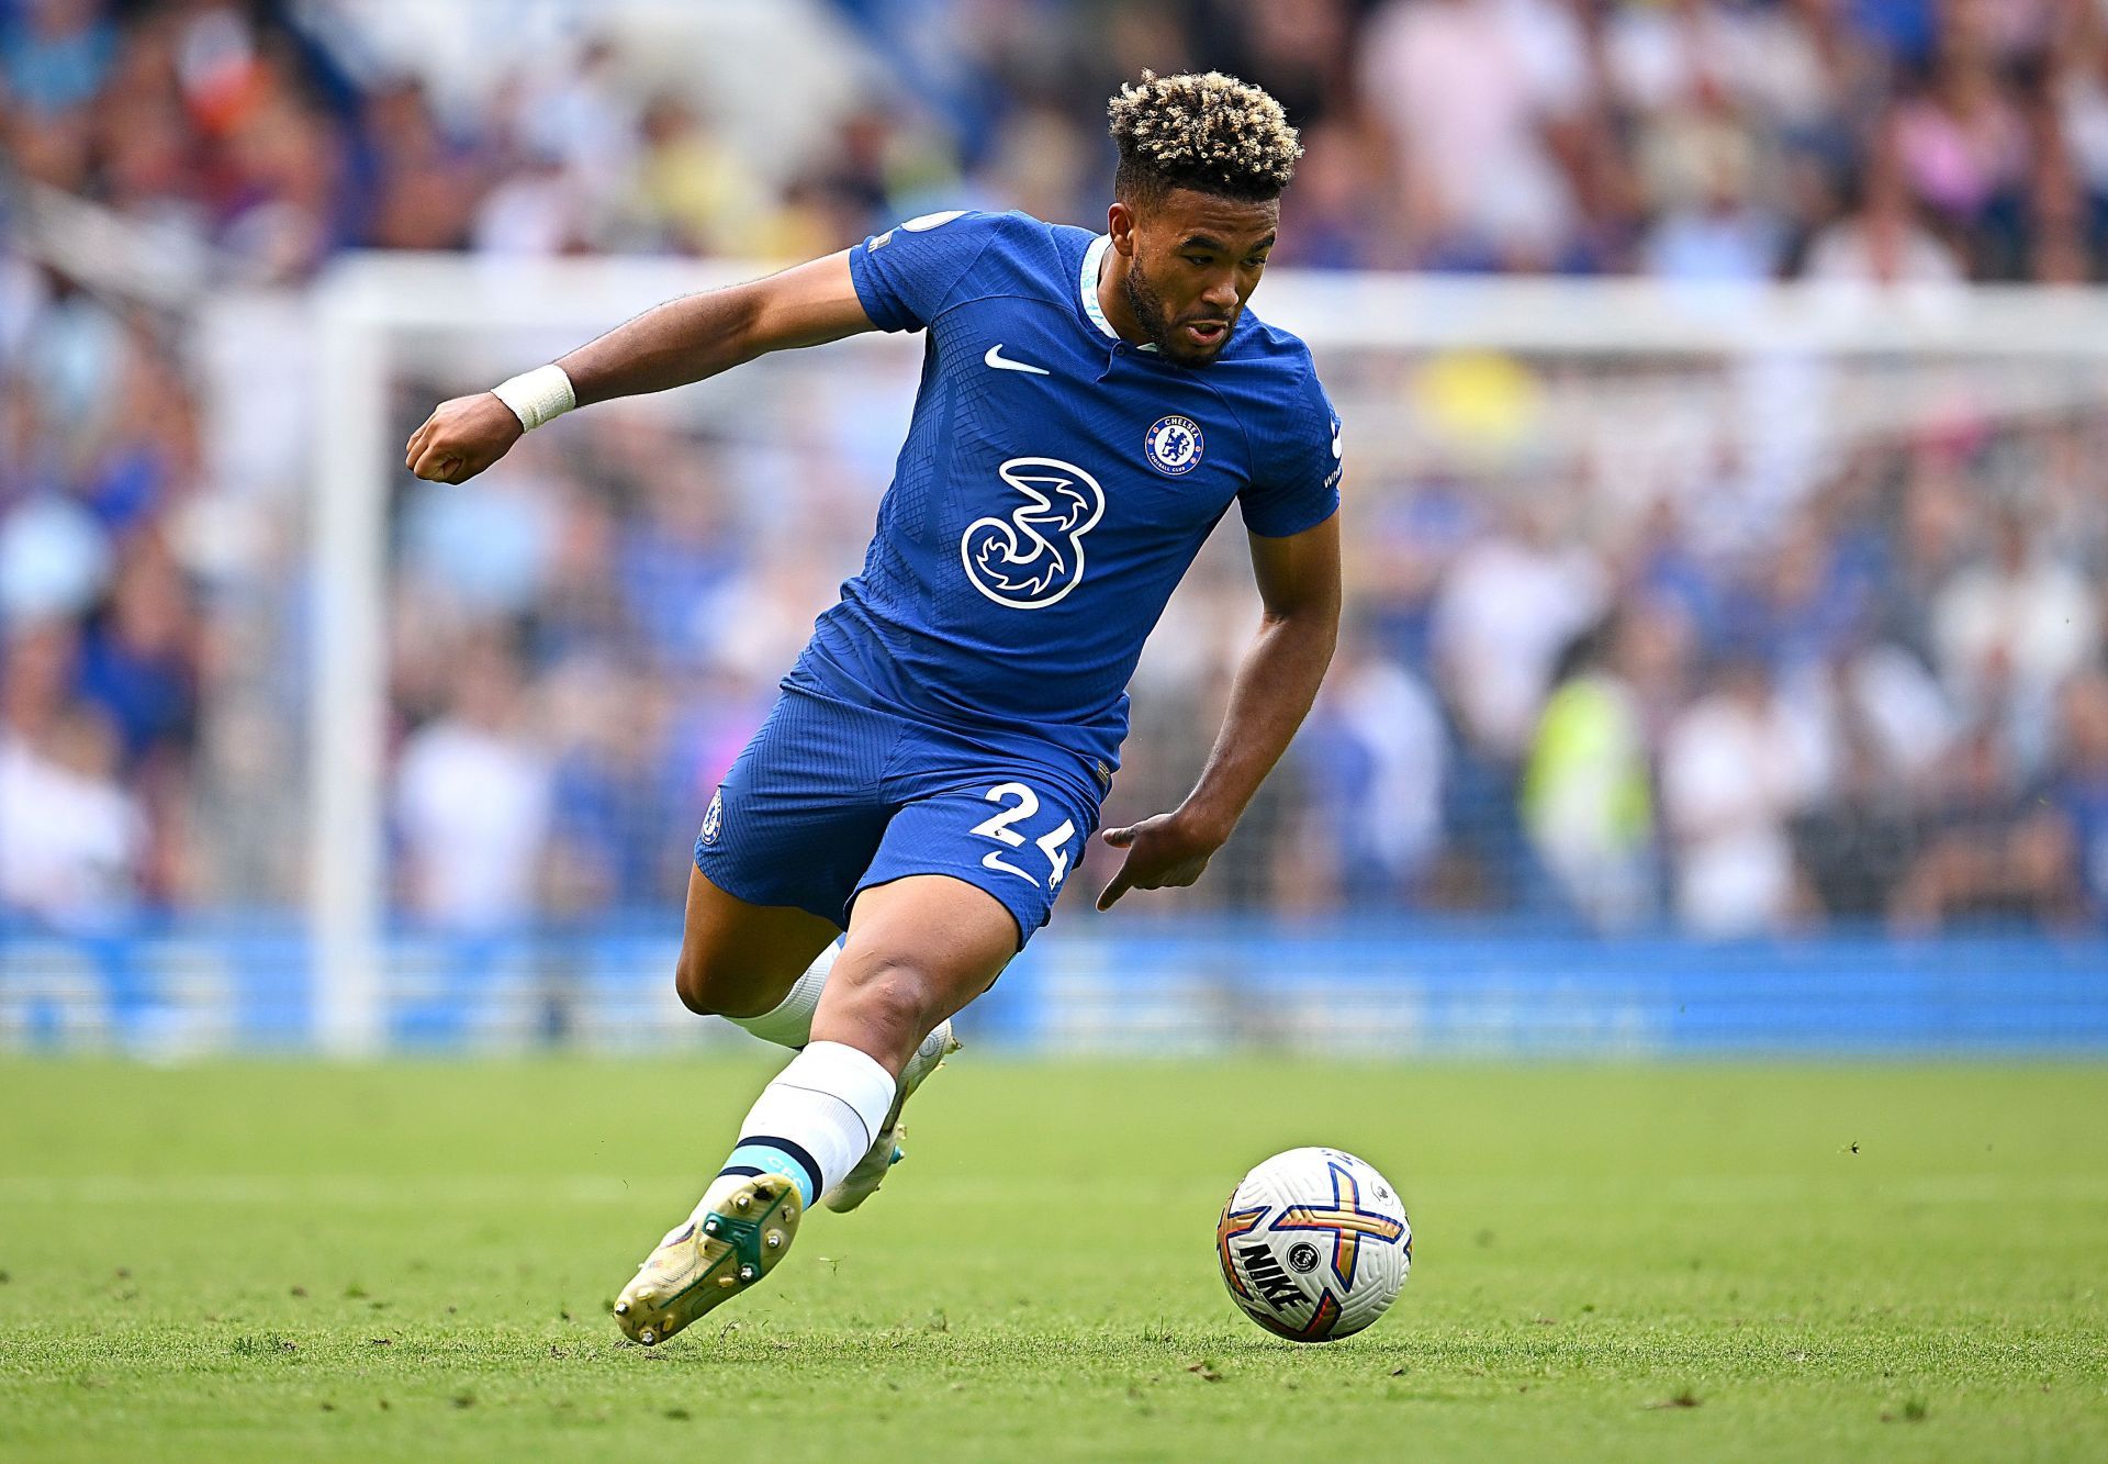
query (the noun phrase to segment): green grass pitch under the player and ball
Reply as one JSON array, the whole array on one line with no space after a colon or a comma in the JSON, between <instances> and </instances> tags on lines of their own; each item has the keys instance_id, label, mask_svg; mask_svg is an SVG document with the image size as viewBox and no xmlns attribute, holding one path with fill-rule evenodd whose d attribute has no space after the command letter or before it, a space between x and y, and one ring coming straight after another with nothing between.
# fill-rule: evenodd
<instances>
[{"instance_id":1,"label":"green grass pitch under the player and ball","mask_svg":"<svg viewBox=\"0 0 2108 1464\"><path fill-rule=\"evenodd\" d=\"M2108 1456L2108 1067L968 1051L862 1213L620 1344L765 1074L0 1063L0 1456ZM1417 1232L1326 1348L1214 1270L1296 1143Z\"/></svg>"}]
</instances>

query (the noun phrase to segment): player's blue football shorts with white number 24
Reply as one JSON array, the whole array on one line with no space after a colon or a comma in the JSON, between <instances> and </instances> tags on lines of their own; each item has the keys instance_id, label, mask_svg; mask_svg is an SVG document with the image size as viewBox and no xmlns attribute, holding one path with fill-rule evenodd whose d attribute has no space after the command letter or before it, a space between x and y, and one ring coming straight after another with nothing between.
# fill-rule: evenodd
<instances>
[{"instance_id":1,"label":"player's blue football shorts with white number 24","mask_svg":"<svg viewBox=\"0 0 2108 1464\"><path fill-rule=\"evenodd\" d=\"M1084 863L1098 802L1062 749L1024 755L786 686L710 800L696 869L843 930L862 890L944 873L999 899L1022 949Z\"/></svg>"}]
</instances>

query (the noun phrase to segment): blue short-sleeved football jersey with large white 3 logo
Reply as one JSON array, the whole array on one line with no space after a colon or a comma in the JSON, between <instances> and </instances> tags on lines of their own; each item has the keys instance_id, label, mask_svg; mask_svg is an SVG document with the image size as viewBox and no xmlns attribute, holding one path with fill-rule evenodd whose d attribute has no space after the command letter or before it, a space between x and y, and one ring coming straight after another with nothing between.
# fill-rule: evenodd
<instances>
[{"instance_id":1,"label":"blue short-sleeved football jersey with large white 3 logo","mask_svg":"<svg viewBox=\"0 0 2108 1464\"><path fill-rule=\"evenodd\" d=\"M1309 348L1246 310L1183 367L1098 306L1107 236L934 213L850 251L871 321L928 331L864 570L793 683L1117 766L1128 677L1235 502L1288 536L1339 508L1339 418Z\"/></svg>"}]
</instances>

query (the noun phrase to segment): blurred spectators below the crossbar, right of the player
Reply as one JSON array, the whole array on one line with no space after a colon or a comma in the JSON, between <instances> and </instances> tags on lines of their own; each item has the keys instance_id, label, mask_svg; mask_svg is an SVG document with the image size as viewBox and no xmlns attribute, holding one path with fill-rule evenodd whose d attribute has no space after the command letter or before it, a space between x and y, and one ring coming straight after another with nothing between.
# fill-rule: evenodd
<instances>
[{"instance_id":1,"label":"blurred spectators below the crossbar, right of the player","mask_svg":"<svg viewBox=\"0 0 2108 1464\"><path fill-rule=\"evenodd\" d=\"M2104 430L1925 422L1735 542L1748 464L1625 515L1400 483L1299 759L1330 899L1714 937L2097 922Z\"/></svg>"}]
</instances>

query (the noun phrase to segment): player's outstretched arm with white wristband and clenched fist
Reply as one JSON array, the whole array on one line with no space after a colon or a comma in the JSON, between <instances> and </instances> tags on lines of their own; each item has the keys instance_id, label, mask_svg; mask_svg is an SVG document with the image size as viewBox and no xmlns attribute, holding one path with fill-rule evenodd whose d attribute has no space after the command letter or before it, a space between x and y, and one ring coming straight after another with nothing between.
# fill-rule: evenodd
<instances>
[{"instance_id":1,"label":"player's outstretched arm with white wristband and clenched fist","mask_svg":"<svg viewBox=\"0 0 2108 1464\"><path fill-rule=\"evenodd\" d=\"M856 293L847 251L668 300L561 357L554 367L438 403L411 432L403 462L422 479L464 483L504 458L529 422L540 424L573 405L687 386L772 350L820 346L877 327ZM523 390L527 401L519 401Z\"/></svg>"}]
</instances>

